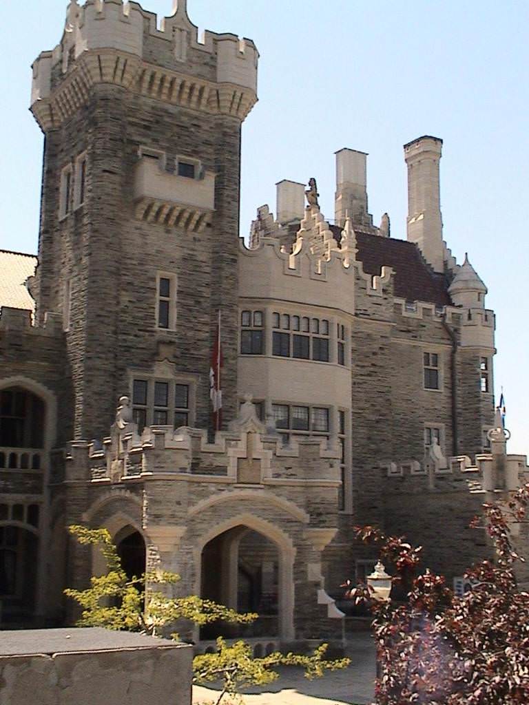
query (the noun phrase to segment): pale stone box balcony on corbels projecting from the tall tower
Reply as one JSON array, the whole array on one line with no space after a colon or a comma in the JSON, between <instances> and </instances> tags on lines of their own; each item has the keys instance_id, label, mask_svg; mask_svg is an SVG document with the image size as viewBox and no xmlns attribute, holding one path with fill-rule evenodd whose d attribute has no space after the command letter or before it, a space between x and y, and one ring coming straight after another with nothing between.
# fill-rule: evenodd
<instances>
[{"instance_id":1,"label":"pale stone box balcony on corbels projecting from the tall tower","mask_svg":"<svg viewBox=\"0 0 529 705\"><path fill-rule=\"evenodd\" d=\"M197 168L197 171L198 168ZM166 228L200 233L211 223L215 175L178 176L164 169L162 158L144 155L135 167L135 217Z\"/></svg>"}]
</instances>

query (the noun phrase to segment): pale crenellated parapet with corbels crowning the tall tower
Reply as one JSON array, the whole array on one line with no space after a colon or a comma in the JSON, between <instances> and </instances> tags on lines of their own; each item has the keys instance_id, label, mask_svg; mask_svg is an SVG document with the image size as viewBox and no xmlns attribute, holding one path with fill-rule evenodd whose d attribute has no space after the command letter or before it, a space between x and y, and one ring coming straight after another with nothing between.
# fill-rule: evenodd
<instances>
[{"instance_id":1,"label":"pale crenellated parapet with corbels crowning the tall tower","mask_svg":"<svg viewBox=\"0 0 529 705\"><path fill-rule=\"evenodd\" d=\"M258 58L250 39L205 32L199 41L183 0L160 23L135 2L71 1L61 42L33 63L31 109L46 132L104 83L243 120L257 101Z\"/></svg>"}]
</instances>

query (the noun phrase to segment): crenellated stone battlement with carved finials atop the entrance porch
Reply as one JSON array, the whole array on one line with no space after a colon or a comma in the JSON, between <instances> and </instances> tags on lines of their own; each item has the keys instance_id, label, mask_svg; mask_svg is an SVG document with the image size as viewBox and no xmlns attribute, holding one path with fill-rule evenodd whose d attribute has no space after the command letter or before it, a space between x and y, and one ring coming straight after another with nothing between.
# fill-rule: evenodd
<instances>
[{"instance_id":1,"label":"crenellated stone battlement with carved finials atop the entrance porch","mask_svg":"<svg viewBox=\"0 0 529 705\"><path fill-rule=\"evenodd\" d=\"M231 424L210 443L207 431L147 427L141 436L122 398L111 436L101 443L75 441L67 455L68 479L130 482L175 479L192 482L267 485L315 483L338 487L340 450L322 439L293 440L283 446L246 402Z\"/></svg>"}]
</instances>

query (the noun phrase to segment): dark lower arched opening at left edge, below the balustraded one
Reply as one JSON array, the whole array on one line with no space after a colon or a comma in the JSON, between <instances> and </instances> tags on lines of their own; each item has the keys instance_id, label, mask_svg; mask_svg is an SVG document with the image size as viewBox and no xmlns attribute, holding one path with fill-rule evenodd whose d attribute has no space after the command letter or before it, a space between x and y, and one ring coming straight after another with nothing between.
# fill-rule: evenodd
<instances>
[{"instance_id":1,"label":"dark lower arched opening at left edge, below the balustraded one","mask_svg":"<svg viewBox=\"0 0 529 705\"><path fill-rule=\"evenodd\" d=\"M1 622L24 627L35 613L39 539L20 526L0 526Z\"/></svg>"}]
</instances>

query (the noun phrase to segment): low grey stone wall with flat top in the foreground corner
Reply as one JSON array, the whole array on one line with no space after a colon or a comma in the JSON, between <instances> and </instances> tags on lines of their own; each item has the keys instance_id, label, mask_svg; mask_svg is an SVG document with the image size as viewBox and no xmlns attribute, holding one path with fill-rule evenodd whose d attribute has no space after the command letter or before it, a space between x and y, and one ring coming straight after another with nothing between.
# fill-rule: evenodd
<instances>
[{"instance_id":1,"label":"low grey stone wall with flat top in the foreground corner","mask_svg":"<svg viewBox=\"0 0 529 705\"><path fill-rule=\"evenodd\" d=\"M184 705L193 649L104 629L2 632L0 705Z\"/></svg>"}]
</instances>

